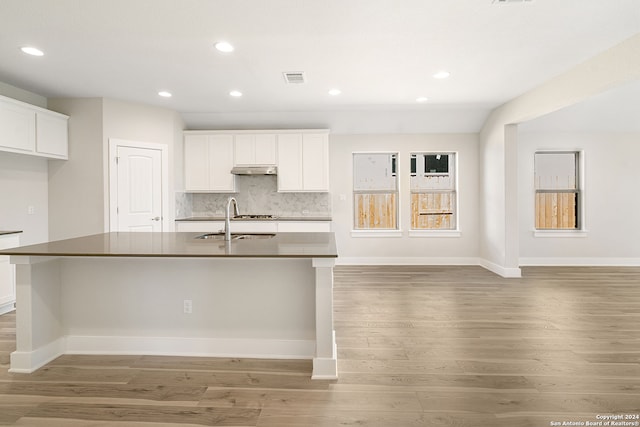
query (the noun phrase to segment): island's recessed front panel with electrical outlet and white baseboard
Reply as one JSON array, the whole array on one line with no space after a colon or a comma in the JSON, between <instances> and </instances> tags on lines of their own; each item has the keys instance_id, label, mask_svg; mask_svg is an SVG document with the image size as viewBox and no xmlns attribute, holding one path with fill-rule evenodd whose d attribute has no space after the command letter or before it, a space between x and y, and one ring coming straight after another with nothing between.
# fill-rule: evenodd
<instances>
[{"instance_id":1,"label":"island's recessed front panel with electrical outlet and white baseboard","mask_svg":"<svg viewBox=\"0 0 640 427\"><path fill-rule=\"evenodd\" d=\"M67 258L62 282L68 353L315 353L311 259Z\"/></svg>"}]
</instances>

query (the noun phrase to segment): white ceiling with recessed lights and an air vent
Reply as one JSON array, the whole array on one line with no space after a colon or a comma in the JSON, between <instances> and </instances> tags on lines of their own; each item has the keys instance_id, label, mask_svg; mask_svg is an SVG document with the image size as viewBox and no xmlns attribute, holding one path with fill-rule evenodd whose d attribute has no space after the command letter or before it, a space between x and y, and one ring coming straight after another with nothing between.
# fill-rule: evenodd
<instances>
[{"instance_id":1,"label":"white ceiling with recessed lights and an air vent","mask_svg":"<svg viewBox=\"0 0 640 427\"><path fill-rule=\"evenodd\" d=\"M477 131L496 106L640 32L640 4L2 0L0 28L0 81L48 98L163 106L192 129ZM286 84L288 71L306 83Z\"/></svg>"}]
</instances>

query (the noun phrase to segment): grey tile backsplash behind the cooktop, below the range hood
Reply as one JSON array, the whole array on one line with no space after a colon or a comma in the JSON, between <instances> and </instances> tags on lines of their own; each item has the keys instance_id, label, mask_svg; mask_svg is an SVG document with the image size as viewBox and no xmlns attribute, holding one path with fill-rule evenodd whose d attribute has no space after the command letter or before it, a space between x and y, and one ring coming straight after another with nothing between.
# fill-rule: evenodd
<instances>
[{"instance_id":1,"label":"grey tile backsplash behind the cooktop, below the range hood","mask_svg":"<svg viewBox=\"0 0 640 427\"><path fill-rule=\"evenodd\" d=\"M329 193L278 193L275 176L237 176L236 189L237 193L177 193L176 218L223 215L232 196L241 214L331 216Z\"/></svg>"}]
</instances>

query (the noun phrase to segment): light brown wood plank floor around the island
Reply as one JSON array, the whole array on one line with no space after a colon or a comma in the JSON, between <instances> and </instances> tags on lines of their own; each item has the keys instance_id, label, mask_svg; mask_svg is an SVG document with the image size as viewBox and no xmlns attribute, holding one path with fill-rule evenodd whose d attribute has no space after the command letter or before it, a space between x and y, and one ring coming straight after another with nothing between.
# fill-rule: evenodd
<instances>
[{"instance_id":1,"label":"light brown wood plank floor around the island","mask_svg":"<svg viewBox=\"0 0 640 427\"><path fill-rule=\"evenodd\" d=\"M310 361L150 356L68 355L10 374L15 316L0 316L0 424L541 427L640 414L640 268L335 276L337 381L311 381Z\"/></svg>"}]
</instances>

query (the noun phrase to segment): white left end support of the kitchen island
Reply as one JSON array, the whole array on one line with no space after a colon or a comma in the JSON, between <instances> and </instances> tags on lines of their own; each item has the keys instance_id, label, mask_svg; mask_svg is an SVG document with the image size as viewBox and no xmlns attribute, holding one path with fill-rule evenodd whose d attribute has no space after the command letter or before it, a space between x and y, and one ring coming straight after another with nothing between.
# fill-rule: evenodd
<instances>
[{"instance_id":1,"label":"white left end support of the kitchen island","mask_svg":"<svg viewBox=\"0 0 640 427\"><path fill-rule=\"evenodd\" d=\"M30 373L64 353L60 259L12 256L16 264L16 351L10 372Z\"/></svg>"}]
</instances>

